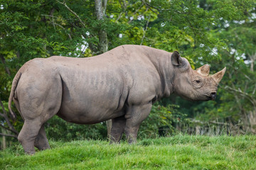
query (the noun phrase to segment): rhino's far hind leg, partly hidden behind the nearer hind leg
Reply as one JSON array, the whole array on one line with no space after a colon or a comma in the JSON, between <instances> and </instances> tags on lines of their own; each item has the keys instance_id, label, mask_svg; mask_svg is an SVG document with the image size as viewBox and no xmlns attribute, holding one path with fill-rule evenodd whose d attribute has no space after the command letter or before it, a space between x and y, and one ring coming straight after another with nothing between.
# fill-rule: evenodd
<instances>
[{"instance_id":1,"label":"rhino's far hind leg, partly hidden behind the nearer hind leg","mask_svg":"<svg viewBox=\"0 0 256 170\"><path fill-rule=\"evenodd\" d=\"M50 145L46 137L46 130L44 129L44 124L41 126L41 129L38 132L34 146L39 150L50 149Z\"/></svg>"}]
</instances>

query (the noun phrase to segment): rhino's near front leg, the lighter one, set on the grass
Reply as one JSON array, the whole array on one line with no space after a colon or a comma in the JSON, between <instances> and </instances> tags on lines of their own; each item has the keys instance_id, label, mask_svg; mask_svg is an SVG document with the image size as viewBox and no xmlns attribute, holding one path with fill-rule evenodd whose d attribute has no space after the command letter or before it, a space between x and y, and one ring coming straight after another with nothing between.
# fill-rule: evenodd
<instances>
[{"instance_id":1,"label":"rhino's near front leg, the lighter one, set on the grass","mask_svg":"<svg viewBox=\"0 0 256 170\"><path fill-rule=\"evenodd\" d=\"M129 144L137 142L137 134L142 121L149 115L152 104L146 103L139 106L130 106L124 116L127 121L124 128Z\"/></svg>"}]
</instances>

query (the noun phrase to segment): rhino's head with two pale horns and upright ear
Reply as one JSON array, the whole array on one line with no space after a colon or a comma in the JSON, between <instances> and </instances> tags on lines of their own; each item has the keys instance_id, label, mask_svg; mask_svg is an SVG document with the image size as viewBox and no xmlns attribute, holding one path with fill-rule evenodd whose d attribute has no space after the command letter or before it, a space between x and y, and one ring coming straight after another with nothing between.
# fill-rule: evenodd
<instances>
[{"instance_id":1,"label":"rhino's head with two pale horns and upright ear","mask_svg":"<svg viewBox=\"0 0 256 170\"><path fill-rule=\"evenodd\" d=\"M188 60L176 51L171 55L171 63L174 67L174 93L189 101L209 101L216 98L218 84L226 68L213 75L209 75L208 64L193 70Z\"/></svg>"}]
</instances>

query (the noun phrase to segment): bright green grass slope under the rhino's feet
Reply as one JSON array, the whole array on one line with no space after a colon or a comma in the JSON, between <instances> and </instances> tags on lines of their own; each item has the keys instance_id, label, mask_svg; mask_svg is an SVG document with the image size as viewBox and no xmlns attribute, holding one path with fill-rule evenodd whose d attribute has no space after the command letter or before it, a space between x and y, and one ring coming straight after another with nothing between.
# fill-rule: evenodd
<instances>
[{"instance_id":1,"label":"bright green grass slope under the rhino's feet","mask_svg":"<svg viewBox=\"0 0 256 170\"><path fill-rule=\"evenodd\" d=\"M0 169L256 169L256 136L188 136L140 140L50 142L29 156L21 145L0 152Z\"/></svg>"}]
</instances>

